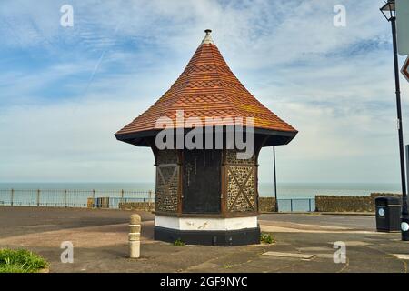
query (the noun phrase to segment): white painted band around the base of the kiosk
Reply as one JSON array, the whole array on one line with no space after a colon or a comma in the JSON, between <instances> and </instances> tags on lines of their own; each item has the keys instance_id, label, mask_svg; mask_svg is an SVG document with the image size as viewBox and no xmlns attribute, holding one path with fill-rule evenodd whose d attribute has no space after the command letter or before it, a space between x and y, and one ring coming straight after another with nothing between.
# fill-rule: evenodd
<instances>
[{"instance_id":1,"label":"white painted band around the base of the kiosk","mask_svg":"<svg viewBox=\"0 0 409 291\"><path fill-rule=\"evenodd\" d=\"M178 230L236 230L257 227L257 216L232 218L155 216L155 226Z\"/></svg>"}]
</instances>

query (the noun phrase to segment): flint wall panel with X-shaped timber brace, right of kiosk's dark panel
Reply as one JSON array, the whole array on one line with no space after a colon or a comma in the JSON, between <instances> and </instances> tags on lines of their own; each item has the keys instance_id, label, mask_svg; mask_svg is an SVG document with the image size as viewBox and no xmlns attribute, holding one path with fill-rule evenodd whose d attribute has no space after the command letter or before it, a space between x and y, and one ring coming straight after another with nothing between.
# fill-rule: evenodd
<instances>
[{"instance_id":1,"label":"flint wall panel with X-shaped timber brace, right of kiosk's dark panel","mask_svg":"<svg viewBox=\"0 0 409 291\"><path fill-rule=\"evenodd\" d=\"M255 156L237 159L236 150L226 150L227 211L255 212Z\"/></svg>"}]
</instances>

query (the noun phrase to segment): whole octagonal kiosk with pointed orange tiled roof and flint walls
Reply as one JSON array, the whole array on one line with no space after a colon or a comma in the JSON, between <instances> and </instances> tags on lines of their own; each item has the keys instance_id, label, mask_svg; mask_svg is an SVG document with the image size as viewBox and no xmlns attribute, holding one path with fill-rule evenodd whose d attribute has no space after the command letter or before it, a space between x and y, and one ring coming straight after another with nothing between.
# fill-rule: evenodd
<instances>
[{"instance_id":1,"label":"whole octagonal kiosk with pointed orange tiled roof and flint walls","mask_svg":"<svg viewBox=\"0 0 409 291\"><path fill-rule=\"evenodd\" d=\"M257 244L258 154L297 131L246 90L205 33L175 84L115 136L153 150L155 239Z\"/></svg>"}]
</instances>

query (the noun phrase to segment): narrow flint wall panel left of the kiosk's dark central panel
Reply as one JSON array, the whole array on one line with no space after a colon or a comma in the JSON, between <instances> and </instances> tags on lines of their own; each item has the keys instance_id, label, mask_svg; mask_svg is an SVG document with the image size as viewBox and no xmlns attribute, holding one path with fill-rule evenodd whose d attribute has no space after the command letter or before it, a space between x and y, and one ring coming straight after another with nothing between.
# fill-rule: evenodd
<instances>
[{"instance_id":1,"label":"narrow flint wall panel left of the kiosk's dark central panel","mask_svg":"<svg viewBox=\"0 0 409 291\"><path fill-rule=\"evenodd\" d=\"M179 166L176 150L159 150L156 154L155 210L177 212Z\"/></svg>"}]
</instances>

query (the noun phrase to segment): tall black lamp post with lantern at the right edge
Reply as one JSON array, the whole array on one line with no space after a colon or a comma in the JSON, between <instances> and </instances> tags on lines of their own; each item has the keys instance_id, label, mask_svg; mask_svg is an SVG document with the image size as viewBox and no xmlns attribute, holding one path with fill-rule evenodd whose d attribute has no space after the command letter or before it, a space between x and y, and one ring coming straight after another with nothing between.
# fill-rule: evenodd
<instances>
[{"instance_id":1,"label":"tall black lamp post with lantern at the right edge","mask_svg":"<svg viewBox=\"0 0 409 291\"><path fill-rule=\"evenodd\" d=\"M402 109L401 109L401 89L399 85L399 68L398 55L396 45L396 9L394 0L388 0L384 6L381 7L381 12L392 26L392 40L394 45L394 85L396 89L396 109L397 109L397 126L399 136L399 154L401 166L401 182L402 182L402 215L401 215L401 231L402 240L409 240L409 217L407 211L407 197L406 197L406 182L404 175L404 131L402 128Z\"/></svg>"}]
</instances>

